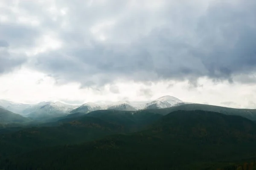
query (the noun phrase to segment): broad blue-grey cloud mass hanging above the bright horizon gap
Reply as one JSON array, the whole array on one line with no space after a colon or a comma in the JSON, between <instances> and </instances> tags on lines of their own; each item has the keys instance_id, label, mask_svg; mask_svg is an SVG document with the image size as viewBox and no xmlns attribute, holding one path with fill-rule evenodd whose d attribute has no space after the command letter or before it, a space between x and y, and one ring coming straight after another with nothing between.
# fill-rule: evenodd
<instances>
[{"instance_id":1,"label":"broad blue-grey cloud mass hanging above the bright horizon gap","mask_svg":"<svg viewBox=\"0 0 256 170\"><path fill-rule=\"evenodd\" d=\"M42 29L22 27L25 36L14 35L20 40L29 37L25 43L29 45L42 30L54 30L63 46L36 55L32 67L58 82L76 81L84 87L116 79L147 83L188 79L197 86L197 79L203 76L232 83L235 75L256 71L254 0L215 1L208 8L200 7L196 0L165 1L160 9L150 10L144 5L131 7L129 1L109 0L91 6L81 1L61 2L57 6L68 7L65 16L49 14L47 8L39 10L36 3L21 3L22 8L43 18ZM106 24L96 33L107 37L104 42L90 32L95 24L111 20L113 25ZM65 22L68 26L62 28ZM11 38L16 28L9 29L4 39L11 45L20 43Z\"/></svg>"}]
</instances>

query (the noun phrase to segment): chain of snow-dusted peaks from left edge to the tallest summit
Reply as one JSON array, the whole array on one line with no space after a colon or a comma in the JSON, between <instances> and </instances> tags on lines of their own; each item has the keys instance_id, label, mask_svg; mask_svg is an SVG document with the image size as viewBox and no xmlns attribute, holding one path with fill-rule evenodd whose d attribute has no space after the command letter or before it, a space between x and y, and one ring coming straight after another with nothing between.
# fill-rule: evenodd
<instances>
[{"instance_id":1,"label":"chain of snow-dusted peaks from left edge to the tallest summit","mask_svg":"<svg viewBox=\"0 0 256 170\"><path fill-rule=\"evenodd\" d=\"M172 96L163 96L148 103L134 103L129 101L119 101L115 104L99 105L88 102L82 105L69 105L61 102L41 102L38 104L20 104L11 101L0 100L0 107L15 112L33 120L47 120L61 117L76 112L88 113L95 110L114 109L125 111L137 111L140 109L160 109L188 104Z\"/></svg>"}]
</instances>

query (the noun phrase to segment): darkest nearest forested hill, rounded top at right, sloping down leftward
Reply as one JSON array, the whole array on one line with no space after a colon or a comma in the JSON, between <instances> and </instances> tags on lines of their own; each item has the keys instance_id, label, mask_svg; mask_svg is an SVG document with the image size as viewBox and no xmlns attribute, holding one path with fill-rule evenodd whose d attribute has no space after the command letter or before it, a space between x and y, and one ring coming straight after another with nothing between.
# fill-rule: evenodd
<instances>
[{"instance_id":1,"label":"darkest nearest forested hill, rounded top at right, sloping down leftward","mask_svg":"<svg viewBox=\"0 0 256 170\"><path fill-rule=\"evenodd\" d=\"M230 166L255 156L255 142L256 124L246 118L200 110L175 111L139 133L39 149L1 161L0 167L216 170L219 165Z\"/></svg>"}]
</instances>

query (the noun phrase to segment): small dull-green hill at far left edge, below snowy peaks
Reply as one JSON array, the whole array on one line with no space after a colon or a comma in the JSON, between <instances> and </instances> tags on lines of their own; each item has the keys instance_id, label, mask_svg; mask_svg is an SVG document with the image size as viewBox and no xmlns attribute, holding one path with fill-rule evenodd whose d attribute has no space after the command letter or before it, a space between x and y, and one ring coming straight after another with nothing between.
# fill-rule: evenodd
<instances>
[{"instance_id":1,"label":"small dull-green hill at far left edge, below snowy peaks","mask_svg":"<svg viewBox=\"0 0 256 170\"><path fill-rule=\"evenodd\" d=\"M29 122L29 118L25 118L19 114L10 112L6 109L0 108L0 123L19 123L19 122Z\"/></svg>"}]
</instances>

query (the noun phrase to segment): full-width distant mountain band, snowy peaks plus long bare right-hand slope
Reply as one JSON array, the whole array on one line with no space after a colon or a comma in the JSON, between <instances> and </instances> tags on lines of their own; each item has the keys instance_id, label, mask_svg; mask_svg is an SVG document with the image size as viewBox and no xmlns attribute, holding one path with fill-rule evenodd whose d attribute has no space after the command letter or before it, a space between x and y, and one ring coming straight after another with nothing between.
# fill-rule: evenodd
<instances>
[{"instance_id":1,"label":"full-width distant mountain band, snowy peaks plus long bare right-hand slope","mask_svg":"<svg viewBox=\"0 0 256 170\"><path fill-rule=\"evenodd\" d=\"M65 118L75 118L97 110L119 110L129 113L142 113L148 110L154 114L166 115L176 110L204 110L226 115L239 115L256 121L256 109L233 109L206 104L192 104L172 96L163 96L151 102L136 103L119 101L116 104L100 105L88 102L82 105L69 105L61 102L41 102L38 104L19 104L0 100L2 123L52 122Z\"/></svg>"}]
</instances>

